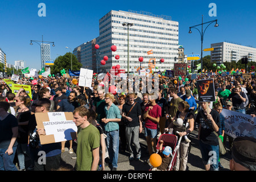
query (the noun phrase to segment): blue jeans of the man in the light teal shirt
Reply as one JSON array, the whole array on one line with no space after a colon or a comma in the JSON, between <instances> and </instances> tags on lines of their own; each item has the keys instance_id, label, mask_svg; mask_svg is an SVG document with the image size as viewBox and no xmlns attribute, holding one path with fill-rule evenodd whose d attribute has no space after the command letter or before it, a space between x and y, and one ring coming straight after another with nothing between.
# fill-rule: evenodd
<instances>
[{"instance_id":1,"label":"blue jeans of the man in the light teal shirt","mask_svg":"<svg viewBox=\"0 0 256 182\"><path fill-rule=\"evenodd\" d=\"M118 152L119 152L119 130L106 131L106 146L109 152L109 163L117 168Z\"/></svg>"}]
</instances>

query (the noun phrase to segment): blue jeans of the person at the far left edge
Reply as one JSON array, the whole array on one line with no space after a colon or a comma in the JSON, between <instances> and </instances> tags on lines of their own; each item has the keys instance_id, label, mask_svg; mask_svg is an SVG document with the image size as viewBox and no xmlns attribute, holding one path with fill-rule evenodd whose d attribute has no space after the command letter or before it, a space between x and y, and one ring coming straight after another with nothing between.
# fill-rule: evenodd
<instances>
[{"instance_id":1,"label":"blue jeans of the person at the far left edge","mask_svg":"<svg viewBox=\"0 0 256 182\"><path fill-rule=\"evenodd\" d=\"M17 147L13 147L13 154L5 154L7 148L0 148L0 171L18 171L13 160Z\"/></svg>"}]
</instances>

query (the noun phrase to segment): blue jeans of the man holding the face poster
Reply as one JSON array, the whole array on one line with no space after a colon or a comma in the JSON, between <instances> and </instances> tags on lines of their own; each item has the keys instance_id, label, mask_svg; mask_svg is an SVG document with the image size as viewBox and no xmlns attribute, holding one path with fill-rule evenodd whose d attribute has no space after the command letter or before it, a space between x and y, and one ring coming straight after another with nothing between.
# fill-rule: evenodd
<instances>
[{"instance_id":1,"label":"blue jeans of the man holding the face poster","mask_svg":"<svg viewBox=\"0 0 256 182\"><path fill-rule=\"evenodd\" d=\"M219 147L205 144L199 140L204 165L210 164L210 171L218 171Z\"/></svg>"}]
</instances>

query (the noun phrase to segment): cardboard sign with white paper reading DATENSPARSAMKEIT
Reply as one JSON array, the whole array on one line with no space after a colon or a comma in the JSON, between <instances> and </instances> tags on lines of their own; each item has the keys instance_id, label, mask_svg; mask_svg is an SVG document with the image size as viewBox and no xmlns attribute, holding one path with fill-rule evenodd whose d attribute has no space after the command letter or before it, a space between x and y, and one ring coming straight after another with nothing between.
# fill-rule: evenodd
<instances>
[{"instance_id":1,"label":"cardboard sign with white paper reading DATENSPARSAMKEIT","mask_svg":"<svg viewBox=\"0 0 256 182\"><path fill-rule=\"evenodd\" d=\"M71 112L35 113L37 129L46 130L39 135L41 144L56 143L77 138L77 126Z\"/></svg>"}]
</instances>

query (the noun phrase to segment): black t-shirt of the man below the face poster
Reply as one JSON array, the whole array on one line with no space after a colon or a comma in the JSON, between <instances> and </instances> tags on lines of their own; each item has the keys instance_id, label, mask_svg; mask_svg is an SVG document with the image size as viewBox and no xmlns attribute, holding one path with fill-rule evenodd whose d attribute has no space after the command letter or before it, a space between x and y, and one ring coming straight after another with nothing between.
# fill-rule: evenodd
<instances>
[{"instance_id":1,"label":"black t-shirt of the man below the face poster","mask_svg":"<svg viewBox=\"0 0 256 182\"><path fill-rule=\"evenodd\" d=\"M212 129L207 125L207 123L204 121L204 118L201 116L201 113L204 114L203 110L200 110L196 116L196 122L201 124L201 130L200 130L200 140L209 145L217 146L218 145L218 138L213 133ZM216 110L211 110L210 114L212 115L213 120L215 121L216 125L218 127L221 126L220 123L220 115ZM204 115L205 118L207 118L206 115ZM209 124L212 125L212 122L209 121ZM211 126L212 128L212 126Z\"/></svg>"}]
</instances>

